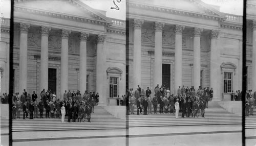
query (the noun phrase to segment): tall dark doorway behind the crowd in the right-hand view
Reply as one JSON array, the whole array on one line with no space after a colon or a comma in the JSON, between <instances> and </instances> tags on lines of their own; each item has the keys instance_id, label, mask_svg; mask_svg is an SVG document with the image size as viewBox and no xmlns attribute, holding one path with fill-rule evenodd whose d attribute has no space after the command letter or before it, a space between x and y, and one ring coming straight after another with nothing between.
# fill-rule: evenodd
<instances>
[{"instance_id":1,"label":"tall dark doorway behind the crowd in the right-hand view","mask_svg":"<svg viewBox=\"0 0 256 146\"><path fill-rule=\"evenodd\" d=\"M162 64L162 85L170 89L170 64Z\"/></svg>"}]
</instances>

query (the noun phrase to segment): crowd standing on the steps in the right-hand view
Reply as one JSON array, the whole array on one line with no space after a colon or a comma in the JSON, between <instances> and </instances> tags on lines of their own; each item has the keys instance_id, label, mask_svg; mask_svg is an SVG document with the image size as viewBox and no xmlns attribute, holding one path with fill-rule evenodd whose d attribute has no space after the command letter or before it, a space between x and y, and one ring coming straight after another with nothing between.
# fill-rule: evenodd
<instances>
[{"instance_id":1,"label":"crowd standing on the steps in the right-hand view","mask_svg":"<svg viewBox=\"0 0 256 146\"><path fill-rule=\"evenodd\" d=\"M176 118L178 118L179 112L182 112L181 117L204 117L205 108L208 108L208 101L212 100L213 95L212 88L201 88L199 86L196 91L194 86L189 88L183 87L178 88L177 94L170 94L169 88L165 86L159 87L157 85L154 91L154 98L152 98L152 91L149 87L144 91L138 85L137 89L127 89L126 91L126 114L134 114L134 109L137 107L137 115L142 113L147 115L147 113L152 114L152 105L154 107L154 114L157 114L157 107L159 106L159 113L174 113Z\"/></svg>"}]
</instances>

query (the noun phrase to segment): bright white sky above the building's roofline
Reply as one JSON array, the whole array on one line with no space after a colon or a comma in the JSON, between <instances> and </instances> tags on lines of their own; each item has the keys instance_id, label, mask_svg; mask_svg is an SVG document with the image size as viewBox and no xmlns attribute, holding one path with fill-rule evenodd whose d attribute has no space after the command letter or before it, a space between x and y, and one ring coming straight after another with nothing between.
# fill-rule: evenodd
<instances>
[{"instance_id":1,"label":"bright white sky above the building's roofline","mask_svg":"<svg viewBox=\"0 0 256 146\"><path fill-rule=\"evenodd\" d=\"M1 3L2 1L2 3ZM114 7L112 0L81 0L85 4L94 9L106 11L106 16L116 19L125 20L125 0L119 0L120 3L115 0L119 10L111 9ZM138 0L145 1L145 0ZM161 1L161 0L159 0ZM201 0L206 4L220 6L220 11L224 13L243 15L243 0ZM0 12L1 16L10 18L10 0L0 0Z\"/></svg>"}]
</instances>

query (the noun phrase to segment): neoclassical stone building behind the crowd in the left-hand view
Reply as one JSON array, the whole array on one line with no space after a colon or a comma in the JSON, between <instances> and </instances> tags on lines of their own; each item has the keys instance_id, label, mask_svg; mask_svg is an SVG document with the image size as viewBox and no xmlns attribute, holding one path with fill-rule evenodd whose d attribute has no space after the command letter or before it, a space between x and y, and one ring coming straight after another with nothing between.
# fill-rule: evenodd
<instances>
[{"instance_id":1,"label":"neoclassical stone building behind the crowd in the left-hand view","mask_svg":"<svg viewBox=\"0 0 256 146\"><path fill-rule=\"evenodd\" d=\"M1 93L51 89L99 92L111 105L125 94L125 22L81 1L15 1L13 68L8 68L9 19L1 19ZM3 52L3 53L2 53Z\"/></svg>"}]
</instances>

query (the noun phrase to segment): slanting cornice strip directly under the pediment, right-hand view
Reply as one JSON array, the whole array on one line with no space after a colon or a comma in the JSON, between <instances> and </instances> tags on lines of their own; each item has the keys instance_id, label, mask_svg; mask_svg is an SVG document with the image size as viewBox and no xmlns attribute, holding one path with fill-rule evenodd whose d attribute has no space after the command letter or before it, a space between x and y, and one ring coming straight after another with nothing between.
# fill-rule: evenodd
<instances>
[{"instance_id":1,"label":"slanting cornice strip directly under the pediment, right-hand view","mask_svg":"<svg viewBox=\"0 0 256 146\"><path fill-rule=\"evenodd\" d=\"M150 5L138 4L138 3L132 3L132 2L126 2L126 5L129 8L133 7L133 8L145 9L145 10L150 10L150 11L155 11L155 12L170 13L170 14L176 14L176 15L189 16L189 17L197 17L197 18L202 18L202 19L217 20L217 21L226 20L226 18L223 16L188 12L188 11L182 11L182 10L177 10L177 9L163 8L163 7L158 7L158 6L150 6Z\"/></svg>"}]
</instances>

